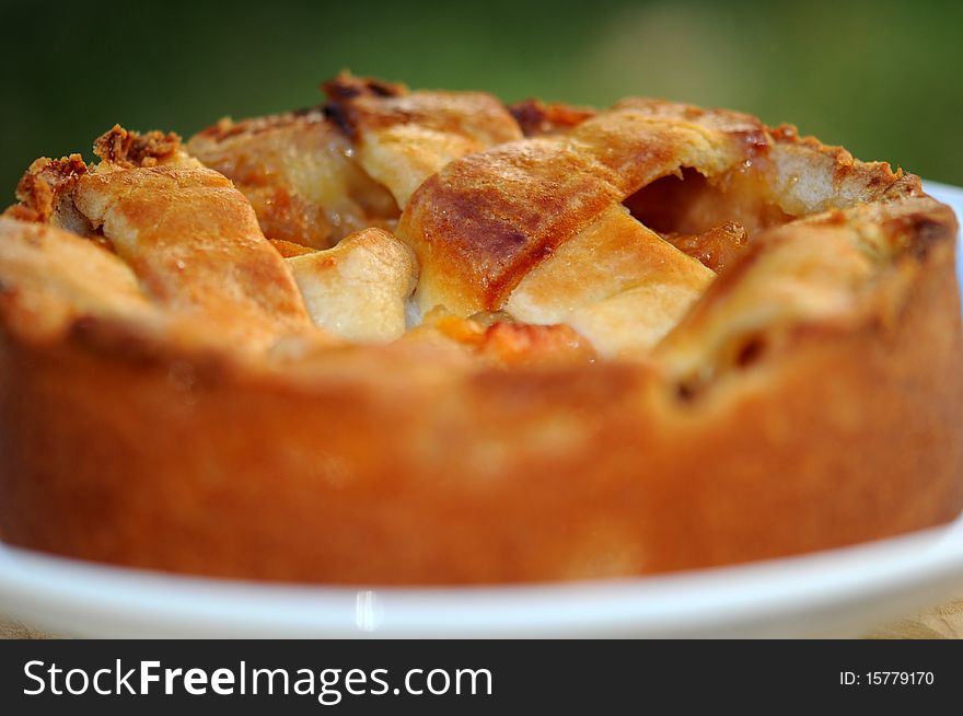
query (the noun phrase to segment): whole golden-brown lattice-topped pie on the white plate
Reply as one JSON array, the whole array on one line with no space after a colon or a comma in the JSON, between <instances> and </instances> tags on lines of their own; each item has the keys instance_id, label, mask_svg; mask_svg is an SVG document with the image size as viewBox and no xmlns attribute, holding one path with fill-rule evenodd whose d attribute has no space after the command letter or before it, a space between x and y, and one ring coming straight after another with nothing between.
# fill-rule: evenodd
<instances>
[{"instance_id":1,"label":"whole golden-brown lattice-topped pie on the white plate","mask_svg":"<svg viewBox=\"0 0 963 716\"><path fill-rule=\"evenodd\" d=\"M491 584L963 508L956 223L916 176L663 101L325 88L27 171L0 219L3 540Z\"/></svg>"}]
</instances>

